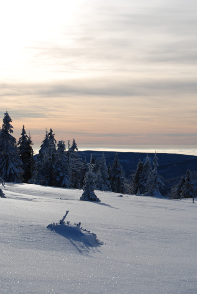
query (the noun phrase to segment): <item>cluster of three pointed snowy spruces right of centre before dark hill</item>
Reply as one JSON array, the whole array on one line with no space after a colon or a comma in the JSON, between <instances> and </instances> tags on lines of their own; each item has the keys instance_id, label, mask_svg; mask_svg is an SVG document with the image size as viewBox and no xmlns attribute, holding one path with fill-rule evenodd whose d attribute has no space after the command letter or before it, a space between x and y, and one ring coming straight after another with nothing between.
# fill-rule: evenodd
<instances>
[{"instance_id":1,"label":"cluster of three pointed snowy spruces right of centre before dark hill","mask_svg":"<svg viewBox=\"0 0 197 294\"><path fill-rule=\"evenodd\" d=\"M163 178L157 173L158 157L155 152L153 158L153 169L150 163L150 158L147 155L146 161L143 164L139 160L137 169L133 173L132 185L134 194L143 194L145 196L160 196L160 187L164 187Z\"/></svg>"}]
</instances>

